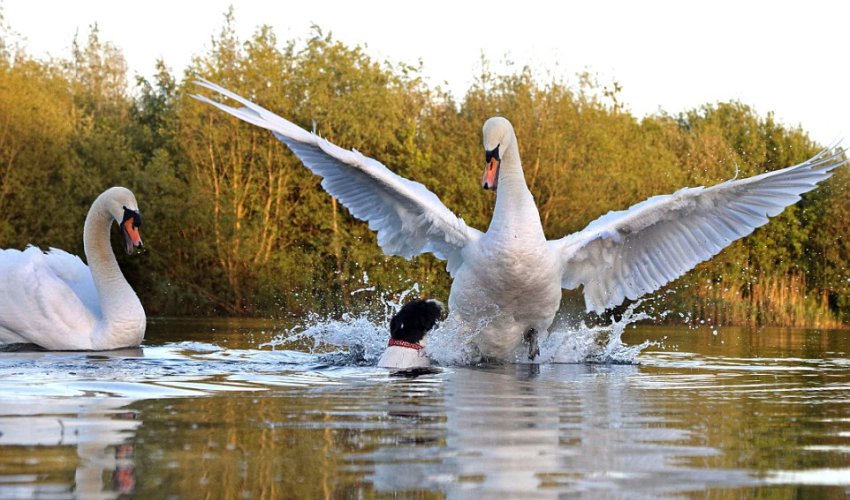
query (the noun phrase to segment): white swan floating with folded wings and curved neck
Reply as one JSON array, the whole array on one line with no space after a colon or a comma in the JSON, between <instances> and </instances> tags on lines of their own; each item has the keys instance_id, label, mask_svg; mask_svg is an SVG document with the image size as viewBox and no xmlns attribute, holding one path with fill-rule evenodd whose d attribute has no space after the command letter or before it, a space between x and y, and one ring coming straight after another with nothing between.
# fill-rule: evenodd
<instances>
[{"instance_id":1,"label":"white swan floating with folded wings and curved neck","mask_svg":"<svg viewBox=\"0 0 850 500\"><path fill-rule=\"evenodd\" d=\"M124 279L109 241L112 221L127 253L141 248L139 206L133 193L113 187L92 203L83 228L89 265L79 257L30 246L0 250L0 344L50 350L135 347L145 335L145 310Z\"/></svg>"}]
</instances>

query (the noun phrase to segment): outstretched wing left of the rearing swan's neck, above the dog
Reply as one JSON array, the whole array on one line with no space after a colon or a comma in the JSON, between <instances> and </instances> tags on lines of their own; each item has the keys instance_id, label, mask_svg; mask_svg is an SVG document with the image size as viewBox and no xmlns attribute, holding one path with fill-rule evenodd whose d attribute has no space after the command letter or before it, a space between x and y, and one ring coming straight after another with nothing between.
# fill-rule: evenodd
<instances>
[{"instance_id":1,"label":"outstretched wing left of the rearing swan's neck, above the dog","mask_svg":"<svg viewBox=\"0 0 850 500\"><path fill-rule=\"evenodd\" d=\"M203 79L197 83L243 107L233 108L204 96L193 97L271 130L289 146L307 168L322 177L325 191L354 217L368 222L369 229L377 231L378 245L384 253L409 259L431 252L447 260L449 272L454 273L461 264L460 250L481 236L422 184L394 174L355 150L342 149L214 83Z\"/></svg>"}]
</instances>

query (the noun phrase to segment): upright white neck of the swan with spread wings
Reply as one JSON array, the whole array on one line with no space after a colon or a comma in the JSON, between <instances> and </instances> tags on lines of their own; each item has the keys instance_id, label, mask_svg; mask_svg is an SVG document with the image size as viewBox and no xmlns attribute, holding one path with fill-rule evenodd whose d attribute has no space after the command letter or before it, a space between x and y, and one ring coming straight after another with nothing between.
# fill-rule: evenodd
<instances>
[{"instance_id":1,"label":"upright white neck of the swan with spread wings","mask_svg":"<svg viewBox=\"0 0 850 500\"><path fill-rule=\"evenodd\" d=\"M499 167L499 183L496 190L496 208L490 221L488 233L510 234L511 237L544 239L543 226L534 197L525 183L519 148L516 139L505 148Z\"/></svg>"}]
</instances>

